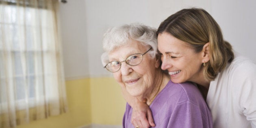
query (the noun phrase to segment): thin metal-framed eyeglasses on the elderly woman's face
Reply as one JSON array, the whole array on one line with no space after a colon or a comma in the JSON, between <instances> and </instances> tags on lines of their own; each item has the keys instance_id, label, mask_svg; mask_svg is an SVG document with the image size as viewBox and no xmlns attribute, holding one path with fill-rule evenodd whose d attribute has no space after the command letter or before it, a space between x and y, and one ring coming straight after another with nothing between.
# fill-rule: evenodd
<instances>
[{"instance_id":1,"label":"thin metal-framed eyeglasses on the elderly woman's face","mask_svg":"<svg viewBox=\"0 0 256 128\"><path fill-rule=\"evenodd\" d=\"M152 47L148 50L150 51ZM147 51L147 52L148 52ZM141 54L141 53L136 53L130 55L126 60L124 60L128 65L131 66L136 66L139 65L143 59L143 55L146 54L147 52ZM106 68L109 72L117 72L121 68L121 63L124 61L111 61L104 68Z\"/></svg>"}]
</instances>

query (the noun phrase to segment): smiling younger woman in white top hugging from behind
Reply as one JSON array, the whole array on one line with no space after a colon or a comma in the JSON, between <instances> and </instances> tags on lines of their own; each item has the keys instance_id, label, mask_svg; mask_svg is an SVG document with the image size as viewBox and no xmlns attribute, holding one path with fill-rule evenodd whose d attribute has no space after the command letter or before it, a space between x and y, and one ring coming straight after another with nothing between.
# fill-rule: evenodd
<instances>
[{"instance_id":1,"label":"smiling younger woman in white top hugging from behind","mask_svg":"<svg viewBox=\"0 0 256 128\"><path fill-rule=\"evenodd\" d=\"M256 128L256 64L232 50L207 11L182 9L160 24L157 35L161 68L175 83L205 89L214 128Z\"/></svg>"}]
</instances>

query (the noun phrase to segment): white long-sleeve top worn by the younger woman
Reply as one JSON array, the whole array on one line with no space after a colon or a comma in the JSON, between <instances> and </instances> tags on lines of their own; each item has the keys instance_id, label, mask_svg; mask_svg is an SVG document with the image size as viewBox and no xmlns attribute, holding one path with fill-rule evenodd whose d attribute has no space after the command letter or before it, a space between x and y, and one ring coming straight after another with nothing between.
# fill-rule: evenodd
<instances>
[{"instance_id":1,"label":"white long-sleeve top worn by the younger woman","mask_svg":"<svg viewBox=\"0 0 256 128\"><path fill-rule=\"evenodd\" d=\"M256 64L236 53L210 82L206 102L214 128L256 128Z\"/></svg>"}]
</instances>

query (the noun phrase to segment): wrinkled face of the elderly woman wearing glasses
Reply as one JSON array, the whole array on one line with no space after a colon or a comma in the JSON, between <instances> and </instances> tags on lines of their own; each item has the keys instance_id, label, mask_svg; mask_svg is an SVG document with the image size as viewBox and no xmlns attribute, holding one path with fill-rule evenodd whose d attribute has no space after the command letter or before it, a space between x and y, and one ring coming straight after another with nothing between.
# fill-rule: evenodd
<instances>
[{"instance_id":1,"label":"wrinkled face of the elderly woman wearing glasses","mask_svg":"<svg viewBox=\"0 0 256 128\"><path fill-rule=\"evenodd\" d=\"M138 41L132 41L126 46L121 46L108 54L109 61L124 61L128 56L136 53L144 53L149 50L149 46L143 46ZM159 62L152 59L149 53L143 55L143 60L139 65L130 66L126 62L121 62L119 71L113 76L121 86L132 96L143 96L149 93L154 86L156 68Z\"/></svg>"}]
</instances>

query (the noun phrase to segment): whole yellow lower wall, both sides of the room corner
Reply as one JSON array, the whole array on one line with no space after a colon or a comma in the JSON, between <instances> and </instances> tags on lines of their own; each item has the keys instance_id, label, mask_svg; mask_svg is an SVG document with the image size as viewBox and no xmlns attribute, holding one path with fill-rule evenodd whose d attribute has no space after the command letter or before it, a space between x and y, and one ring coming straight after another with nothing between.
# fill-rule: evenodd
<instances>
[{"instance_id":1,"label":"whole yellow lower wall, both sides of the room corner","mask_svg":"<svg viewBox=\"0 0 256 128\"><path fill-rule=\"evenodd\" d=\"M66 91L67 113L17 128L78 128L91 123L121 125L125 101L113 78L67 80Z\"/></svg>"}]
</instances>

